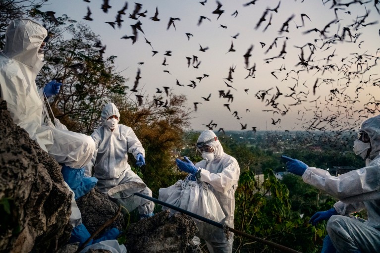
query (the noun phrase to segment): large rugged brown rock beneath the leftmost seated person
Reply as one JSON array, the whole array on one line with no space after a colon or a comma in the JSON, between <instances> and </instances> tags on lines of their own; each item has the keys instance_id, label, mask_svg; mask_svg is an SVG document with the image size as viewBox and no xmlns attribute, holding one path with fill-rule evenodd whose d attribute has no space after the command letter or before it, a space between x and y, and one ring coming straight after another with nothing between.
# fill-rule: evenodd
<instances>
[{"instance_id":1,"label":"large rugged brown rock beneath the leftmost seated person","mask_svg":"<svg viewBox=\"0 0 380 253\"><path fill-rule=\"evenodd\" d=\"M54 252L72 229L61 166L13 123L1 99L0 122L0 251Z\"/></svg>"}]
</instances>

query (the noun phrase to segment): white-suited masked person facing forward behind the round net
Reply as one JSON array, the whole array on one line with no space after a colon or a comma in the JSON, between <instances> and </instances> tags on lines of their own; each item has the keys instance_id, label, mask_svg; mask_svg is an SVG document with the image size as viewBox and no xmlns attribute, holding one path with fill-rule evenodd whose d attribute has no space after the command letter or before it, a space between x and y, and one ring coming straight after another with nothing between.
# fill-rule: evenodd
<instances>
[{"instance_id":1,"label":"white-suited masked person facing forward behind the round net","mask_svg":"<svg viewBox=\"0 0 380 253\"><path fill-rule=\"evenodd\" d=\"M94 166L94 177L98 179L97 187L104 194L122 184L137 182L143 185L143 180L136 175L128 164L128 152L137 160L136 165L145 165L145 150L133 132L132 128L119 124L120 113L113 103L104 106L100 126L91 137L95 141L96 152L92 163L86 166L86 175L91 176ZM142 194L152 197L152 191L146 187ZM140 217L153 215L154 202L138 198Z\"/></svg>"}]
</instances>

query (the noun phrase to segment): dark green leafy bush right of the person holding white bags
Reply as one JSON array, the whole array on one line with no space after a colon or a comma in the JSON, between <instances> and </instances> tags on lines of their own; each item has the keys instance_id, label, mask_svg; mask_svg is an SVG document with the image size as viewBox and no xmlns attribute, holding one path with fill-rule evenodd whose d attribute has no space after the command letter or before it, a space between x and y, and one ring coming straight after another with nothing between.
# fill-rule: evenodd
<instances>
[{"instance_id":1,"label":"dark green leafy bush right of the person holding white bags","mask_svg":"<svg viewBox=\"0 0 380 253\"><path fill-rule=\"evenodd\" d=\"M235 228L303 252L316 252L313 227L291 210L289 191L268 169L264 180L252 171L240 175L235 193ZM321 234L321 233L320 233ZM314 236L314 237L313 237ZM236 236L236 252L273 252L272 248Z\"/></svg>"}]
</instances>

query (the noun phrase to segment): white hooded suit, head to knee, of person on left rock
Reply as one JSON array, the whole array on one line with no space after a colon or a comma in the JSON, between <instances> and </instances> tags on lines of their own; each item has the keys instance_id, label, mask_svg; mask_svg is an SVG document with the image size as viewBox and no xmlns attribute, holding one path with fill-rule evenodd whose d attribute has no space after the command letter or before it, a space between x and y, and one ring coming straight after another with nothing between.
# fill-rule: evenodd
<instances>
[{"instance_id":1,"label":"white hooded suit, head to knee, of person on left rock","mask_svg":"<svg viewBox=\"0 0 380 253\"><path fill-rule=\"evenodd\" d=\"M13 122L32 140L57 162L80 168L91 160L94 141L84 134L43 125L43 91L37 90L35 79L44 65L39 50L47 35L47 30L31 19L10 22L0 54L0 94Z\"/></svg>"}]
</instances>

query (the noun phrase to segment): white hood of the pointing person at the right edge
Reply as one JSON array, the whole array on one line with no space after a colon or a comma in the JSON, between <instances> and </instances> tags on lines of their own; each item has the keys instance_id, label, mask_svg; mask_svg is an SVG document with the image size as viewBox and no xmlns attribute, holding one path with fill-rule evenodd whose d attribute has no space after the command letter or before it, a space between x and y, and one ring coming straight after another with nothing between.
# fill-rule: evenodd
<instances>
[{"instance_id":1,"label":"white hood of the pointing person at the right edge","mask_svg":"<svg viewBox=\"0 0 380 253\"><path fill-rule=\"evenodd\" d=\"M366 132L370 138L372 150L369 158L373 160L380 152L380 115L364 121L360 131Z\"/></svg>"}]
</instances>

